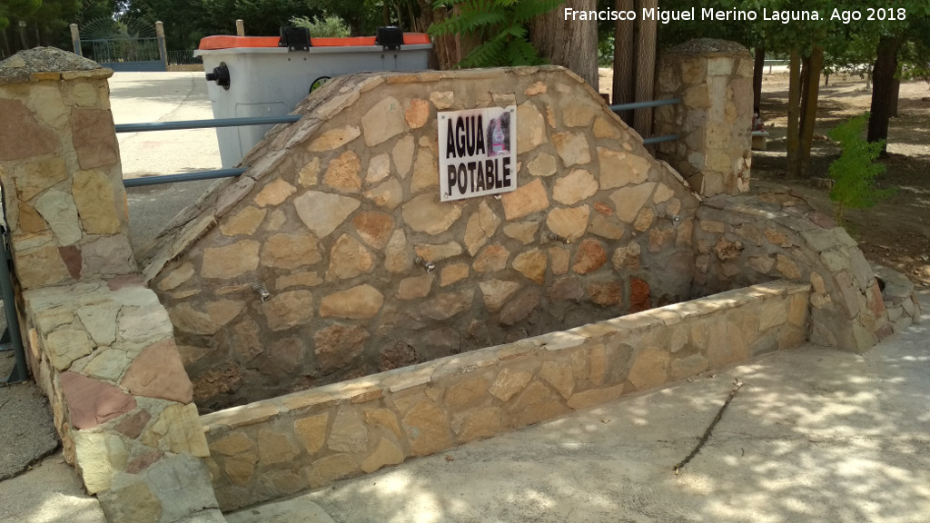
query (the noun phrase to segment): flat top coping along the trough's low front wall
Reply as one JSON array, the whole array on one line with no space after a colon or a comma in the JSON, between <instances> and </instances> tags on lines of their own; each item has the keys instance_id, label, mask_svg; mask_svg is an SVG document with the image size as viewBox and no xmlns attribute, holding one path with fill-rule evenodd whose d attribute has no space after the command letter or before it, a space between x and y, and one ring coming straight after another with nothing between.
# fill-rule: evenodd
<instances>
[{"instance_id":1,"label":"flat top coping along the trough's low front wall","mask_svg":"<svg viewBox=\"0 0 930 523\"><path fill-rule=\"evenodd\" d=\"M312 411L337 404L371 401L405 389L439 382L499 362L531 356L540 351L558 351L584 342L610 342L618 334L631 334L666 327L686 318L750 304L762 298L793 296L809 291L810 284L777 280L747 288L727 290L690 302L674 303L632 315L591 323L575 329L550 332L518 342L495 345L460 355L450 355L419 365L392 369L346 382L331 383L286 396L257 401L201 416L205 433L266 422L289 411Z\"/></svg>"}]
</instances>

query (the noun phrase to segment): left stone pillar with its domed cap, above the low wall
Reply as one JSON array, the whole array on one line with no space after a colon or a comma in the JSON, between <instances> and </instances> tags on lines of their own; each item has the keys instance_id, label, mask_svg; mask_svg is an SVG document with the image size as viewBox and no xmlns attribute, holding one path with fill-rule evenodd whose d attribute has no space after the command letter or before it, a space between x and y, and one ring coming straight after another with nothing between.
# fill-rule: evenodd
<instances>
[{"instance_id":1,"label":"left stone pillar with its domed cap, above the low wall","mask_svg":"<svg viewBox=\"0 0 930 523\"><path fill-rule=\"evenodd\" d=\"M23 290L138 270L111 74L51 47L0 64L0 183Z\"/></svg>"}]
</instances>

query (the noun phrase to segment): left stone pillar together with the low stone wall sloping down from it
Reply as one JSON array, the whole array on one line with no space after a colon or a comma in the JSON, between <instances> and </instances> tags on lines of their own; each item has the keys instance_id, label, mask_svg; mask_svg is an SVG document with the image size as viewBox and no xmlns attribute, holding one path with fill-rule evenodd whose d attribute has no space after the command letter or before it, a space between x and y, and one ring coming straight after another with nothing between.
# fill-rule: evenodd
<instances>
[{"instance_id":1,"label":"left stone pillar together with the low stone wall sloping down from it","mask_svg":"<svg viewBox=\"0 0 930 523\"><path fill-rule=\"evenodd\" d=\"M192 383L126 235L111 74L54 48L0 62L0 184L30 369L109 521L222 521Z\"/></svg>"}]
</instances>

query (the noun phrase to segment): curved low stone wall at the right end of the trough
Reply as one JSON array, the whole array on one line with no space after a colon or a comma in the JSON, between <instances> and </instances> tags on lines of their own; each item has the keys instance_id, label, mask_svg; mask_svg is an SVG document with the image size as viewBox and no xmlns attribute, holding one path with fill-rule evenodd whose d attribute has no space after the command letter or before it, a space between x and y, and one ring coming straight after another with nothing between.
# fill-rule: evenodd
<instances>
[{"instance_id":1,"label":"curved low stone wall at the right end of the trough","mask_svg":"<svg viewBox=\"0 0 930 523\"><path fill-rule=\"evenodd\" d=\"M695 242L696 295L781 277L810 282L811 342L861 353L892 333L856 240L794 194L708 198Z\"/></svg>"}]
</instances>

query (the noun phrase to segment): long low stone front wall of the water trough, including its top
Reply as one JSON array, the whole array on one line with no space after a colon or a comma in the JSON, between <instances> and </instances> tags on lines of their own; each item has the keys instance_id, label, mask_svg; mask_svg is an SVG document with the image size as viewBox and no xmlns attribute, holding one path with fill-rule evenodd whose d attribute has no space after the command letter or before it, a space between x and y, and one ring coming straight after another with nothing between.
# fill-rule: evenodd
<instances>
[{"instance_id":1,"label":"long low stone front wall of the water trough, including its top","mask_svg":"<svg viewBox=\"0 0 930 523\"><path fill-rule=\"evenodd\" d=\"M201 417L222 510L316 489L804 342L785 280Z\"/></svg>"}]
</instances>

